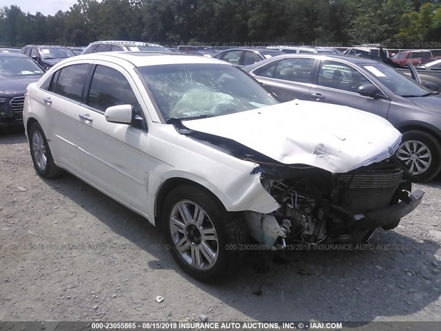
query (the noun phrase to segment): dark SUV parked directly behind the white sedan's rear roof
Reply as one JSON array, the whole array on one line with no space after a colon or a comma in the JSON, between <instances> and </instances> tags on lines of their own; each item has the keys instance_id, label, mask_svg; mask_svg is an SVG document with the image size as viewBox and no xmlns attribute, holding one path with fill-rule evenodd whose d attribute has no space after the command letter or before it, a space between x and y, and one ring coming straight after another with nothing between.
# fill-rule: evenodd
<instances>
[{"instance_id":1,"label":"dark SUV parked directly behind the white sedan's rear roof","mask_svg":"<svg viewBox=\"0 0 441 331\"><path fill-rule=\"evenodd\" d=\"M44 70L48 70L54 64L76 54L67 47L63 46L38 46L26 45L21 48L21 53L32 57Z\"/></svg>"}]
</instances>

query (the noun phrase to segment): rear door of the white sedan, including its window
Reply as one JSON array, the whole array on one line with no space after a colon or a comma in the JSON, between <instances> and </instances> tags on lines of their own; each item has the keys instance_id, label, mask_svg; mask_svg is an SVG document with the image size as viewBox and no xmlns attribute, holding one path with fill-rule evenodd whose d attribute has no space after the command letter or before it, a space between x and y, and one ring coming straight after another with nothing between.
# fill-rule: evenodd
<instances>
[{"instance_id":1,"label":"rear door of the white sedan, including its window","mask_svg":"<svg viewBox=\"0 0 441 331\"><path fill-rule=\"evenodd\" d=\"M44 126L49 132L50 148L54 160L62 163L74 174L81 176L79 158L80 103L92 64L81 63L57 70L45 81L37 101L45 108Z\"/></svg>"}]
</instances>

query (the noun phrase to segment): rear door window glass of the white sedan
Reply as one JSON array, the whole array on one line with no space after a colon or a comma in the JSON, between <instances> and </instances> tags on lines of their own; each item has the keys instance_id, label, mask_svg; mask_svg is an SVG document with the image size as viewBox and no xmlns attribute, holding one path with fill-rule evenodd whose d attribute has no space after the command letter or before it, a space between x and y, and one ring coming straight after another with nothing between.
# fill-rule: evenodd
<instances>
[{"instance_id":1,"label":"rear door window glass of the white sedan","mask_svg":"<svg viewBox=\"0 0 441 331\"><path fill-rule=\"evenodd\" d=\"M59 70L54 92L75 101L83 101L85 82L90 72L90 64L74 64Z\"/></svg>"}]
</instances>

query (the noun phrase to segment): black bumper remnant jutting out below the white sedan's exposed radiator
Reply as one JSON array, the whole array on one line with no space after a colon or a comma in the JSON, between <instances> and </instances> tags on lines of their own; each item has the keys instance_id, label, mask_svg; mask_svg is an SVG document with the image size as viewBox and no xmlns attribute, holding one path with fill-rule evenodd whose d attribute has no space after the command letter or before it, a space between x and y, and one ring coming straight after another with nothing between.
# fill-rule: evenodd
<instances>
[{"instance_id":1,"label":"black bumper remnant jutting out below the white sedan's exposed radiator","mask_svg":"<svg viewBox=\"0 0 441 331\"><path fill-rule=\"evenodd\" d=\"M423 196L424 192L422 190L416 190L409 196L409 202L401 201L395 205L374 210L373 212L356 214L353 216L353 222L351 222L351 226L347 229L347 233L374 230L397 222L402 217L409 214L409 212L417 208L421 203Z\"/></svg>"}]
</instances>

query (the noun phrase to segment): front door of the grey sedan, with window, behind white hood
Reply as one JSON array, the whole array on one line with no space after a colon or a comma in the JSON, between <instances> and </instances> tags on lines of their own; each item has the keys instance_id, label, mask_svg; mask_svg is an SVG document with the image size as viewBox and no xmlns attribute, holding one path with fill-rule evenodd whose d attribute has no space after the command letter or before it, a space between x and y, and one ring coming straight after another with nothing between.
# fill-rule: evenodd
<instances>
[{"instance_id":1,"label":"front door of the grey sedan, with window, behind white hood","mask_svg":"<svg viewBox=\"0 0 441 331\"><path fill-rule=\"evenodd\" d=\"M386 119L391 101L382 92L378 99L362 96L358 88L366 84L373 82L353 66L339 61L320 61L309 100L358 108Z\"/></svg>"}]
</instances>

